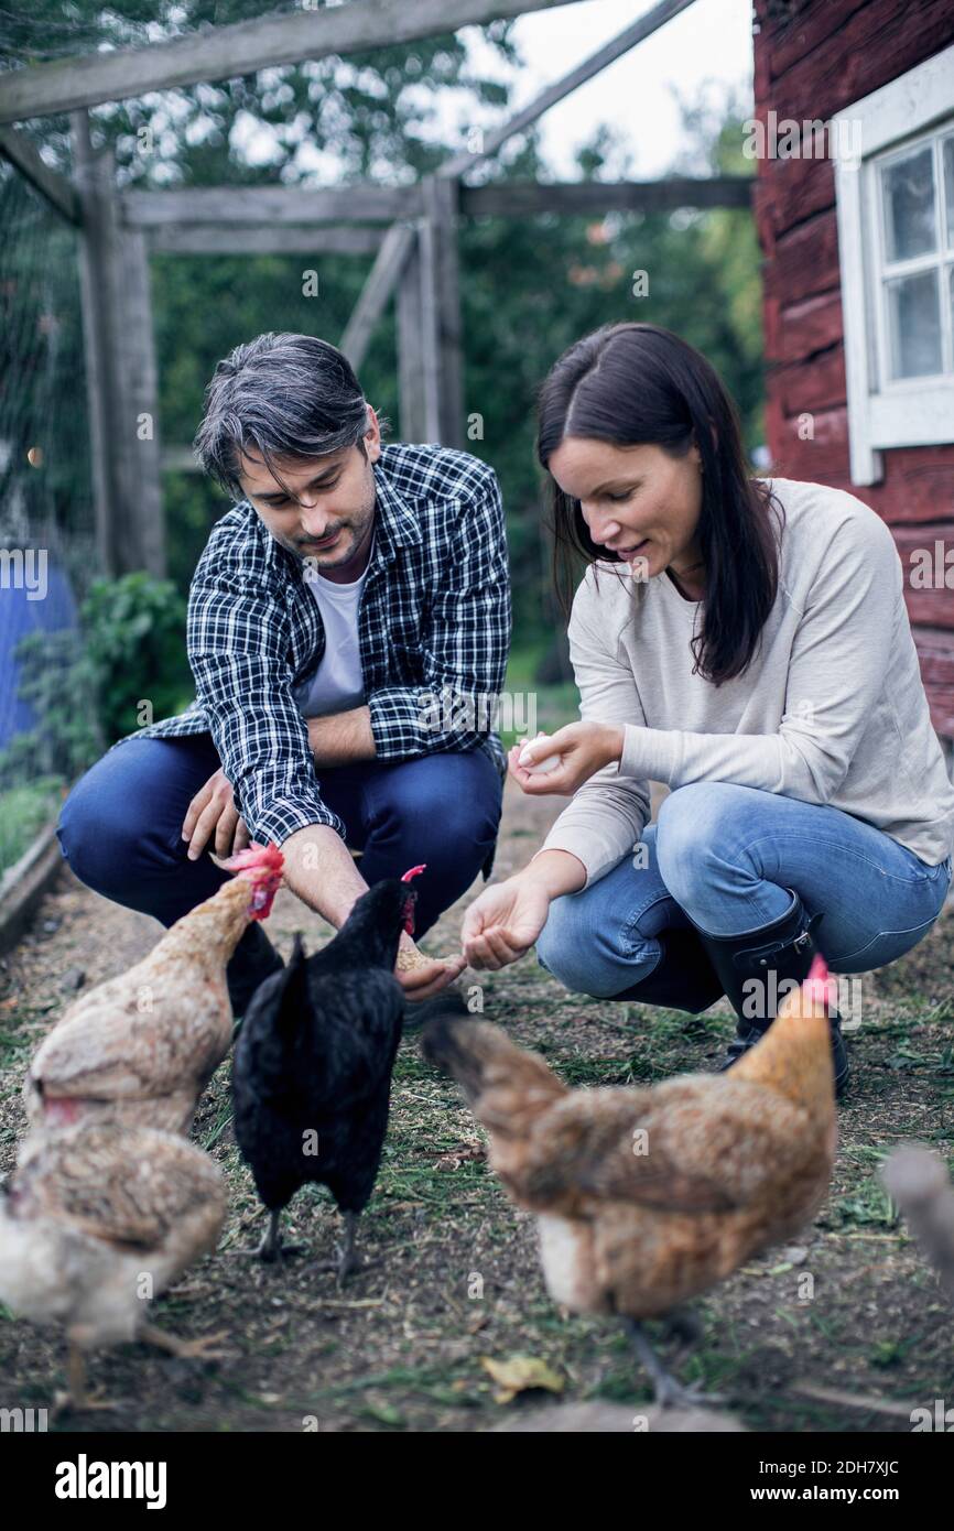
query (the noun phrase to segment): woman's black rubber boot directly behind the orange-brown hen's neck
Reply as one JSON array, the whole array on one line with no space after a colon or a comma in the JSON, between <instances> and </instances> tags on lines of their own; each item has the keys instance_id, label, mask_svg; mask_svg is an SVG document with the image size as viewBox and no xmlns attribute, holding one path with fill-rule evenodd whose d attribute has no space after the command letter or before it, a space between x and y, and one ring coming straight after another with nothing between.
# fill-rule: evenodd
<instances>
[{"instance_id":1,"label":"woman's black rubber boot directly behind the orange-brown hen's neck","mask_svg":"<svg viewBox=\"0 0 954 1531\"><path fill-rule=\"evenodd\" d=\"M818 946L815 945L813 929L821 920L821 914L813 914L810 919L805 908L795 893L789 888L793 897L793 905L787 914L782 914L779 920L772 925L763 926L761 931L749 931L746 935L706 935L700 931L700 940L706 948L712 966L720 975L724 992L732 1001L732 1007L738 1017L738 1026L735 1033L735 1041L729 1043L729 1052L726 1059L720 1064L720 1070L730 1069L733 1063L749 1052L760 1036L769 1030L775 1015L778 1014L779 989L787 980L795 978L796 983L802 983L809 977L809 968L815 955L818 954ZM750 1017L746 1015L746 1004L752 1003L752 992L746 991L746 983L752 978L758 978L769 987L772 984L770 974L775 969L775 995L767 992L766 995L766 1015ZM781 998L790 994L790 987L786 986ZM848 1056L845 1053L844 1038L841 1035L841 1015L833 1010L828 1015L831 1024L831 1067L835 1070L835 1093L838 1096L844 1095L845 1085L848 1082Z\"/></svg>"}]
</instances>

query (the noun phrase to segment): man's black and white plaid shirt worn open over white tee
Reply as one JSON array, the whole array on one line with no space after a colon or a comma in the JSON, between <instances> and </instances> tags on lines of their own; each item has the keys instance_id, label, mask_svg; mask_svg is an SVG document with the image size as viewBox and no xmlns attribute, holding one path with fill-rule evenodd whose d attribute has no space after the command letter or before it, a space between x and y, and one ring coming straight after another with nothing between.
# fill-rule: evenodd
<instances>
[{"instance_id":1,"label":"man's black and white plaid shirt worn open over white tee","mask_svg":"<svg viewBox=\"0 0 954 1531\"><path fill-rule=\"evenodd\" d=\"M511 617L496 475L466 452L389 446L374 476L375 540L358 641L377 759L481 749L504 776L504 747L492 729ZM247 501L222 516L188 596L196 700L112 746L211 733L251 837L277 845L309 824L345 836L322 801L292 698L325 652L302 568Z\"/></svg>"}]
</instances>

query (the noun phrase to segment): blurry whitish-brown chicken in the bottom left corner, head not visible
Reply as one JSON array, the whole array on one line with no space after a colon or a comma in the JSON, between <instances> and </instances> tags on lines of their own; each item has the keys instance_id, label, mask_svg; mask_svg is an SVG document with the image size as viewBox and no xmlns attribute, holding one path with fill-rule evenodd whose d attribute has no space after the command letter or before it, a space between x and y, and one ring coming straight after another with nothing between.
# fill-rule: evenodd
<instances>
[{"instance_id":1,"label":"blurry whitish-brown chicken in the bottom left corner, head not visible","mask_svg":"<svg viewBox=\"0 0 954 1531\"><path fill-rule=\"evenodd\" d=\"M214 1249L225 1220L222 1173L173 1133L92 1125L34 1133L0 1188L0 1300L61 1323L69 1395L86 1395L86 1352L145 1340L208 1355L219 1335L179 1340L145 1321L149 1301ZM103 1407L103 1405L101 1405Z\"/></svg>"}]
</instances>

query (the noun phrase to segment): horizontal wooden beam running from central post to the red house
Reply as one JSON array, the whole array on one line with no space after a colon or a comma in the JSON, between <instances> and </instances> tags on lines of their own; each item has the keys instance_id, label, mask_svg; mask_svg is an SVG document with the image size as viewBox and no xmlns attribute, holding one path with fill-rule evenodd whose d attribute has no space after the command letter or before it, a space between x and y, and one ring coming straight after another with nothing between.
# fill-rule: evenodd
<instances>
[{"instance_id":1,"label":"horizontal wooden beam running from central post to the red house","mask_svg":"<svg viewBox=\"0 0 954 1531\"><path fill-rule=\"evenodd\" d=\"M755 176L666 176L662 181L499 181L461 187L467 217L534 213L658 213L675 207L750 207Z\"/></svg>"}]
</instances>

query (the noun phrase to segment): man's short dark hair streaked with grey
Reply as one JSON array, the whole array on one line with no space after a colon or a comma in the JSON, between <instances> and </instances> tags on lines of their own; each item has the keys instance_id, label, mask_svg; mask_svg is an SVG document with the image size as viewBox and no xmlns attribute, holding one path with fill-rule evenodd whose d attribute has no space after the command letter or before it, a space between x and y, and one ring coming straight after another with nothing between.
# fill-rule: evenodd
<instances>
[{"instance_id":1,"label":"man's short dark hair streaked with grey","mask_svg":"<svg viewBox=\"0 0 954 1531\"><path fill-rule=\"evenodd\" d=\"M219 361L194 449L205 472L242 499L240 455L320 458L361 446L368 400L343 352L314 335L259 335ZM286 488L285 484L282 484Z\"/></svg>"}]
</instances>

